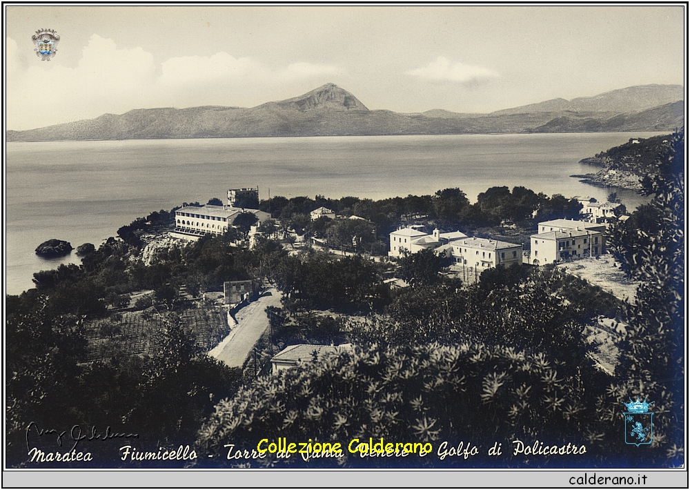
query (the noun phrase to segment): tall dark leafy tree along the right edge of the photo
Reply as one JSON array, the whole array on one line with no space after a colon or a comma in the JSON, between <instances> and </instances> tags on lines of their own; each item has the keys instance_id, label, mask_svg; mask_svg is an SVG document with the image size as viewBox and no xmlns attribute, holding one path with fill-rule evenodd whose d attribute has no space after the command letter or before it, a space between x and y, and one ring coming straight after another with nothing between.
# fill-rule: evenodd
<instances>
[{"instance_id":1,"label":"tall dark leafy tree along the right edge of the photo","mask_svg":"<svg viewBox=\"0 0 690 490\"><path fill-rule=\"evenodd\" d=\"M616 368L616 383L608 389L611 401L600 409L604 420L613 420L611 406L639 395L654 400L654 440L650 455L629 455L633 464L678 467L684 460L684 346L686 345L685 300L685 202L684 133L669 138L669 151L661 152L658 172L642 179L647 194L654 195L648 207L633 213L644 224L635 231L627 227L613 232L618 237L614 251L641 283L635 302L626 306L629 322L621 339L622 356ZM629 219L628 221L631 221ZM620 404L618 405L620 407ZM644 462L643 462L644 461Z\"/></svg>"}]
</instances>

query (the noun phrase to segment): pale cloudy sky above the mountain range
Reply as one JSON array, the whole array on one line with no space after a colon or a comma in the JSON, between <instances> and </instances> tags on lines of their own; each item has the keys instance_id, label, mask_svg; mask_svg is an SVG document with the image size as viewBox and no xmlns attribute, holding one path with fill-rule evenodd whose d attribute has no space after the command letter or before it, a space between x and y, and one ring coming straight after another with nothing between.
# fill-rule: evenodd
<instances>
[{"instance_id":1,"label":"pale cloudy sky above the mountain range","mask_svg":"<svg viewBox=\"0 0 690 490\"><path fill-rule=\"evenodd\" d=\"M253 107L328 82L370 109L491 112L684 84L683 6L6 6L6 128ZM60 36L42 61L31 36Z\"/></svg>"}]
</instances>

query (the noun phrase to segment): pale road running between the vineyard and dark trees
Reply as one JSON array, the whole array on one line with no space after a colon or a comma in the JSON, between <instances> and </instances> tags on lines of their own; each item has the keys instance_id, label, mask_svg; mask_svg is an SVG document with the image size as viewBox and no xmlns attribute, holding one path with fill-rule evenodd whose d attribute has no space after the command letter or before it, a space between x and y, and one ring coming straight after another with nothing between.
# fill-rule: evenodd
<instances>
[{"instance_id":1,"label":"pale road running between the vineyard and dark trees","mask_svg":"<svg viewBox=\"0 0 690 490\"><path fill-rule=\"evenodd\" d=\"M230 367L242 367L257 340L268 329L266 306L280 306L280 298L277 289L269 288L257 301L244 306L235 314L239 324L208 354Z\"/></svg>"}]
</instances>

